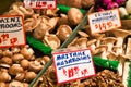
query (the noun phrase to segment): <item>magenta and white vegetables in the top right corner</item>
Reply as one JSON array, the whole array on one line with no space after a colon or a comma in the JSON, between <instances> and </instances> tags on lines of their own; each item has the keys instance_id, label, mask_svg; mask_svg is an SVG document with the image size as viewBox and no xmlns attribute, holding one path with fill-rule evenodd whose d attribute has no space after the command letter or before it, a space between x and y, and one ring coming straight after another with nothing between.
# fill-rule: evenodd
<instances>
[{"instance_id":1,"label":"magenta and white vegetables in the top right corner","mask_svg":"<svg viewBox=\"0 0 131 87\"><path fill-rule=\"evenodd\" d=\"M96 11L106 11L111 9L119 9L120 17L122 20L131 18L131 0L95 0Z\"/></svg>"}]
</instances>

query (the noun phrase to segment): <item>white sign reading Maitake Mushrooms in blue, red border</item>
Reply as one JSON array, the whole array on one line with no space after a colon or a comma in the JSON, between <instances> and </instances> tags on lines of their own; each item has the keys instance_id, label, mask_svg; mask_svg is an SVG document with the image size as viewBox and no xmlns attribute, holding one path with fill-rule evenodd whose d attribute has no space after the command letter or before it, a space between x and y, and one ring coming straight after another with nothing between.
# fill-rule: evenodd
<instances>
[{"instance_id":1,"label":"white sign reading Maitake Mushrooms in blue, red border","mask_svg":"<svg viewBox=\"0 0 131 87\"><path fill-rule=\"evenodd\" d=\"M58 84L95 75L91 50L56 52L52 54Z\"/></svg>"}]
</instances>

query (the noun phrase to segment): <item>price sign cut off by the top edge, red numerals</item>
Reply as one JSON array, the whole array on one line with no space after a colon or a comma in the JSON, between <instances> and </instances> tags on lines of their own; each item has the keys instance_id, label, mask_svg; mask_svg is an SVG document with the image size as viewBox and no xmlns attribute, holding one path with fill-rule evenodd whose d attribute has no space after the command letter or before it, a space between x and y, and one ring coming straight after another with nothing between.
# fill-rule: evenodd
<instances>
[{"instance_id":1,"label":"price sign cut off by the top edge, red numerals","mask_svg":"<svg viewBox=\"0 0 131 87\"><path fill-rule=\"evenodd\" d=\"M55 9L56 0L24 0L25 8L33 9Z\"/></svg>"}]
</instances>

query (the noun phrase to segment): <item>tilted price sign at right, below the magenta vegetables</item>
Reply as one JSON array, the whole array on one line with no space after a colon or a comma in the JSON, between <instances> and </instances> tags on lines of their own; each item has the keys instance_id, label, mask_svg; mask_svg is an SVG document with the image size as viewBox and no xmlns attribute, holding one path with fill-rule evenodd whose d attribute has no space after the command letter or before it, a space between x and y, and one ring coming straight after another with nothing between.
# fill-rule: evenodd
<instances>
[{"instance_id":1,"label":"tilted price sign at right, below the magenta vegetables","mask_svg":"<svg viewBox=\"0 0 131 87\"><path fill-rule=\"evenodd\" d=\"M88 15L91 34L103 33L121 27L118 9L96 12Z\"/></svg>"}]
</instances>

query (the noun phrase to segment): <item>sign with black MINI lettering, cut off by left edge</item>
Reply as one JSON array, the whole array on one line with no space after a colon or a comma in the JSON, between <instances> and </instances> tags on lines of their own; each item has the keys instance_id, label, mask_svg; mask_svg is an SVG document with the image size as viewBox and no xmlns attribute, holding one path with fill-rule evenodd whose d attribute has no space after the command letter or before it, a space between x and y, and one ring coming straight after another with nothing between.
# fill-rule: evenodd
<instances>
[{"instance_id":1,"label":"sign with black MINI lettering, cut off by left edge","mask_svg":"<svg viewBox=\"0 0 131 87\"><path fill-rule=\"evenodd\" d=\"M0 16L0 47L24 46L23 17L20 15Z\"/></svg>"}]
</instances>

